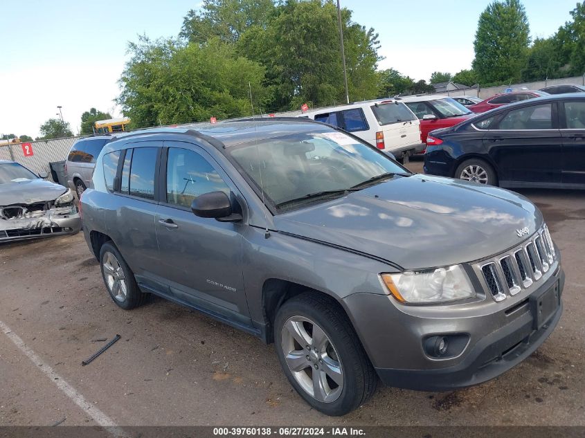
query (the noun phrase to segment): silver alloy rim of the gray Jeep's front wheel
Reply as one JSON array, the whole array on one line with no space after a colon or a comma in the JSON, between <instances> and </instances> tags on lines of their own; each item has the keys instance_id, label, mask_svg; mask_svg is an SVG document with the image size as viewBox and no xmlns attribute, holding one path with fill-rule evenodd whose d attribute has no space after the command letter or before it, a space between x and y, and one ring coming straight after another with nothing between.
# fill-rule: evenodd
<instances>
[{"instance_id":1,"label":"silver alloy rim of the gray Jeep's front wheel","mask_svg":"<svg viewBox=\"0 0 585 438\"><path fill-rule=\"evenodd\" d=\"M282 327L281 342L300 387L317 401L336 401L343 390L343 367L323 329L309 318L291 316Z\"/></svg>"}]
</instances>

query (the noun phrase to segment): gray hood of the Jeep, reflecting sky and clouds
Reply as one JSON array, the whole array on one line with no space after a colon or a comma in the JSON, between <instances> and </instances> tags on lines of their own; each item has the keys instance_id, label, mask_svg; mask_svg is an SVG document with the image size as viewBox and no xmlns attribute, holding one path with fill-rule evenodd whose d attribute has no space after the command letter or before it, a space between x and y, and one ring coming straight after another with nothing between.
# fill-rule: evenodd
<instances>
[{"instance_id":1,"label":"gray hood of the Jeep, reflecting sky and clouds","mask_svg":"<svg viewBox=\"0 0 585 438\"><path fill-rule=\"evenodd\" d=\"M395 176L274 217L278 231L357 250L405 270L473 262L532 235L541 212L519 194L427 175ZM516 230L528 227L529 235Z\"/></svg>"}]
</instances>

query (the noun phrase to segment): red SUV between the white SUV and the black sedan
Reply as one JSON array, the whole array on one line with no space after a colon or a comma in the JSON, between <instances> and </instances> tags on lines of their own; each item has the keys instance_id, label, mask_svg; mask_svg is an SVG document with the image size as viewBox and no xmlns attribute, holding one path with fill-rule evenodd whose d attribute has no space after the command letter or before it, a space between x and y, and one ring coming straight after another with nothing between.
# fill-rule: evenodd
<instances>
[{"instance_id":1,"label":"red SUV between the white SUV and the black sedan","mask_svg":"<svg viewBox=\"0 0 585 438\"><path fill-rule=\"evenodd\" d=\"M444 95L412 96L400 98L400 101L419 118L420 140L425 144L427 134L433 129L448 128L474 116L467 107Z\"/></svg>"}]
</instances>

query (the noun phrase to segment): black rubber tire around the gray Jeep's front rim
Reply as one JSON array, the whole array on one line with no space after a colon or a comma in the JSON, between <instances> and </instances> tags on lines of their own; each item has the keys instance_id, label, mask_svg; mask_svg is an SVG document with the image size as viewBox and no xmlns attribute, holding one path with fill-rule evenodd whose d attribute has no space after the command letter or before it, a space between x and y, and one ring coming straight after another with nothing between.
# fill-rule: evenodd
<instances>
[{"instance_id":1,"label":"black rubber tire around the gray Jeep's front rim","mask_svg":"<svg viewBox=\"0 0 585 438\"><path fill-rule=\"evenodd\" d=\"M307 390L303 389L303 386L293 375L285 360L285 352L283 351L283 343L287 343L285 323L290 318L308 318L312 322L315 322L323 330L328 341L330 341L329 345L334 348L331 355L337 356L338 358L343 381L343 386L339 388L339 395L337 395L335 400L320 401L314 398L312 394L309 394ZM345 415L357 409L363 403L366 403L372 394L374 394L378 382L377 374L350 320L348 320L343 309L334 300L312 291L307 291L291 298L291 300L282 304L276 313L274 339L278 360L289 382L298 394L319 412L331 416ZM307 361L309 361L308 354ZM322 364L323 361L318 361L318 363ZM300 373L308 373L310 371L312 374L312 367L318 367L318 363L314 363L314 365L309 363L307 369ZM325 367L322 367L321 372L324 369ZM296 372L296 374L299 373ZM305 378L311 380L312 376L308 376L307 374ZM334 383L333 381L331 382Z\"/></svg>"}]
</instances>

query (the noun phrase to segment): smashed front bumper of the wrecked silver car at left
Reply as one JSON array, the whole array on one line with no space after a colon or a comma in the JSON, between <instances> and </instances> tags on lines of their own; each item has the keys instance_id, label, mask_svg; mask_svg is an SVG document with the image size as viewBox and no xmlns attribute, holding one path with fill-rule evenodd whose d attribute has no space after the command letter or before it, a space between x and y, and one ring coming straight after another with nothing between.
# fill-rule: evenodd
<instances>
[{"instance_id":1,"label":"smashed front bumper of the wrecked silver car at left","mask_svg":"<svg viewBox=\"0 0 585 438\"><path fill-rule=\"evenodd\" d=\"M34 218L1 219L0 242L73 235L81 230L81 217L75 206L52 208Z\"/></svg>"}]
</instances>

